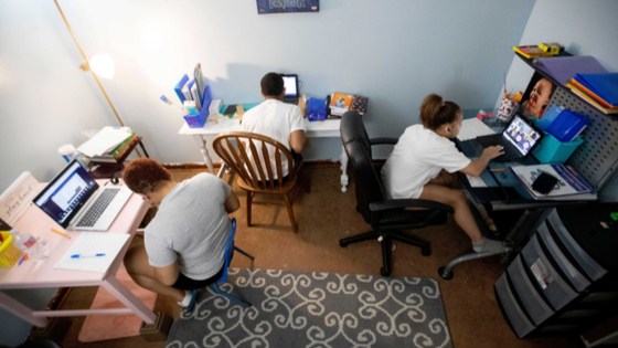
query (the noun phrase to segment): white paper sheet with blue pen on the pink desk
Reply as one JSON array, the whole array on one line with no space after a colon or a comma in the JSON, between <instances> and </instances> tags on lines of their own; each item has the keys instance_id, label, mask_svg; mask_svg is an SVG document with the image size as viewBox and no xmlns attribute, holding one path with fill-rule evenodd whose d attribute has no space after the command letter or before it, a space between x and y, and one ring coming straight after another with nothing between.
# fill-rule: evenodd
<instances>
[{"instance_id":1,"label":"white paper sheet with blue pen on the pink desk","mask_svg":"<svg viewBox=\"0 0 618 348\"><path fill-rule=\"evenodd\" d=\"M127 233L82 232L54 268L107 272L129 236L130 234ZM72 255L96 254L105 254L105 256L71 257Z\"/></svg>"}]
</instances>

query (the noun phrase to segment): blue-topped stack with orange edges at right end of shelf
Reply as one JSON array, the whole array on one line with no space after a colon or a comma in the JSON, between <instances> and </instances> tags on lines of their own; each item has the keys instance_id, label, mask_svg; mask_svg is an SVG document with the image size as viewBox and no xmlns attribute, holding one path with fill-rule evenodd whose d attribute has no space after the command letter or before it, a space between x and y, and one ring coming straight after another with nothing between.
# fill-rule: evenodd
<instances>
[{"instance_id":1,"label":"blue-topped stack with orange edges at right end of shelf","mask_svg":"<svg viewBox=\"0 0 618 348\"><path fill-rule=\"evenodd\" d=\"M618 114L618 73L577 74L566 84L604 114Z\"/></svg>"}]
</instances>

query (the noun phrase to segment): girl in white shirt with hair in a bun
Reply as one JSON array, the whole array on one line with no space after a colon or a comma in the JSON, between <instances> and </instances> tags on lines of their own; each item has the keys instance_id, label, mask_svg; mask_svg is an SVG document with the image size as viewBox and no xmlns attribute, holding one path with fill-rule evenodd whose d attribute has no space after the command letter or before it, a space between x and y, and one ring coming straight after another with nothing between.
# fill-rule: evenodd
<instances>
[{"instance_id":1,"label":"girl in white shirt with hair in a bun","mask_svg":"<svg viewBox=\"0 0 618 348\"><path fill-rule=\"evenodd\" d=\"M501 146L486 148L481 157L470 160L449 139L461 129L464 114L452 102L439 95L425 97L420 105L423 125L404 131L384 168L382 181L391 199L417 198L448 204L455 210L455 221L470 236L476 252L502 252L501 242L484 239L460 190L449 188L450 173L461 171L478 177L489 161L503 154Z\"/></svg>"}]
</instances>

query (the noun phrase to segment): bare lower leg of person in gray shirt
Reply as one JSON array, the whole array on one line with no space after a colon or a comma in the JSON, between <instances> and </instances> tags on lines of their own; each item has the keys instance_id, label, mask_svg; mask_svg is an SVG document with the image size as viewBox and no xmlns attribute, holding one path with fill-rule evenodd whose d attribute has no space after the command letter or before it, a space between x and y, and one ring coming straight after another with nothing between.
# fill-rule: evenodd
<instances>
[{"instance_id":1,"label":"bare lower leg of person in gray shirt","mask_svg":"<svg viewBox=\"0 0 618 348\"><path fill-rule=\"evenodd\" d=\"M143 239L140 236L136 236L131 242L131 246L125 255L125 267L131 278L143 288L170 296L177 302L182 302L187 295L184 291L167 286L157 280L154 267L148 263Z\"/></svg>"}]
</instances>

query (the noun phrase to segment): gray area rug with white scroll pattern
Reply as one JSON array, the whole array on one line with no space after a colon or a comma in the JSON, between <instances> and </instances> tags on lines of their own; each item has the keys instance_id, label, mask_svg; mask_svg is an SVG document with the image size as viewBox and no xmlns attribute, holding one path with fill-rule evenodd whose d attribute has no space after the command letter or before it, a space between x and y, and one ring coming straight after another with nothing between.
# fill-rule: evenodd
<instances>
[{"instance_id":1,"label":"gray area rug with white scroll pattern","mask_svg":"<svg viewBox=\"0 0 618 348\"><path fill-rule=\"evenodd\" d=\"M230 268L175 320L167 348L452 347L438 282L335 273Z\"/></svg>"}]
</instances>

